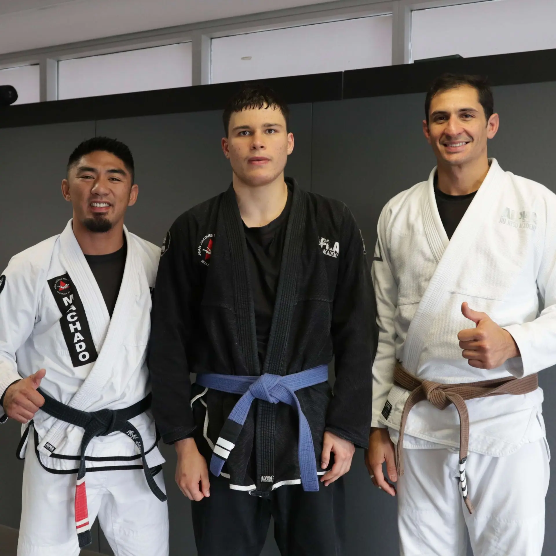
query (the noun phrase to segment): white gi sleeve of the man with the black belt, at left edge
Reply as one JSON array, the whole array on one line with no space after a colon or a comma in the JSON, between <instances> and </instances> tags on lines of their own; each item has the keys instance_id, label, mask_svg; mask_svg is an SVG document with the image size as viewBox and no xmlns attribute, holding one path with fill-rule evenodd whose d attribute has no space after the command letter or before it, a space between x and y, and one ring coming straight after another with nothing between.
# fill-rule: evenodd
<instances>
[{"instance_id":1,"label":"white gi sleeve of the man with the black belt, at left edge","mask_svg":"<svg viewBox=\"0 0 556 556\"><path fill-rule=\"evenodd\" d=\"M37 315L40 272L21 256L13 257L0 277L0 398L21 379L16 352L31 336ZM31 373L38 369L30 369ZM8 416L0 406L0 423Z\"/></svg>"}]
</instances>

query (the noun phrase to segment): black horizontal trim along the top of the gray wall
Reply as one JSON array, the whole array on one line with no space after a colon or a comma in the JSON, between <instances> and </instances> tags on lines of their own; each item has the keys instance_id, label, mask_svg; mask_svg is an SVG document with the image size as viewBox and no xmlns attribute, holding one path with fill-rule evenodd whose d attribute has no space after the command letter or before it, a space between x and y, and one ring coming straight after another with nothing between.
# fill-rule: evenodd
<instances>
[{"instance_id":1,"label":"black horizontal trim along the top of the gray wall","mask_svg":"<svg viewBox=\"0 0 556 556\"><path fill-rule=\"evenodd\" d=\"M434 77L446 71L487 75L492 85L556 81L556 49L259 81L295 104L424 92ZM239 83L219 83L9 106L0 108L0 127L221 110L238 87Z\"/></svg>"}]
</instances>

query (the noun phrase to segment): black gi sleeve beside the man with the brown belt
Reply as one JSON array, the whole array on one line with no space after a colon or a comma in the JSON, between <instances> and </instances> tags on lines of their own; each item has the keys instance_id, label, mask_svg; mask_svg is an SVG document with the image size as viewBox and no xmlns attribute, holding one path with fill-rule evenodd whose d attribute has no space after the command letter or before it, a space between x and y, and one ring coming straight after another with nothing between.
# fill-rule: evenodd
<instances>
[{"instance_id":1,"label":"black gi sleeve beside the man with the brown belt","mask_svg":"<svg viewBox=\"0 0 556 556\"><path fill-rule=\"evenodd\" d=\"M331 322L336 382L325 430L365 448L369 444L371 366L378 336L375 297L363 237L345 206L342 244Z\"/></svg>"}]
</instances>

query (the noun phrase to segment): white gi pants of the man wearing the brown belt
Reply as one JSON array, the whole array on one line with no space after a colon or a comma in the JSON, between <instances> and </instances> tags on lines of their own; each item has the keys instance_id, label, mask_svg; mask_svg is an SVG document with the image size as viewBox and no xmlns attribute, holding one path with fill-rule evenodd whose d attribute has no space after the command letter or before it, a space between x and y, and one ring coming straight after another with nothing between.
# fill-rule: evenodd
<instances>
[{"instance_id":1,"label":"white gi pants of the man wearing the brown belt","mask_svg":"<svg viewBox=\"0 0 556 556\"><path fill-rule=\"evenodd\" d=\"M469 454L465 467L469 514L461 498L459 454L448 449L404 450L398 479L401 556L540 556L549 479L545 439L495 458Z\"/></svg>"}]
</instances>

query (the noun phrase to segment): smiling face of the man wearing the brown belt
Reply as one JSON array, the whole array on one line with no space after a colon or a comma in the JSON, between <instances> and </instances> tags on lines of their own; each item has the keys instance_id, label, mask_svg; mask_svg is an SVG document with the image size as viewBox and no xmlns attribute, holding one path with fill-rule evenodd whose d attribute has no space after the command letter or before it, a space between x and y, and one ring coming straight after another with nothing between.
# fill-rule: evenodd
<instances>
[{"instance_id":1,"label":"smiling face of the man wearing the brown belt","mask_svg":"<svg viewBox=\"0 0 556 556\"><path fill-rule=\"evenodd\" d=\"M498 114L486 121L479 93L464 85L435 95L423 131L439 165L463 166L486 158L486 141L498 131Z\"/></svg>"}]
</instances>

